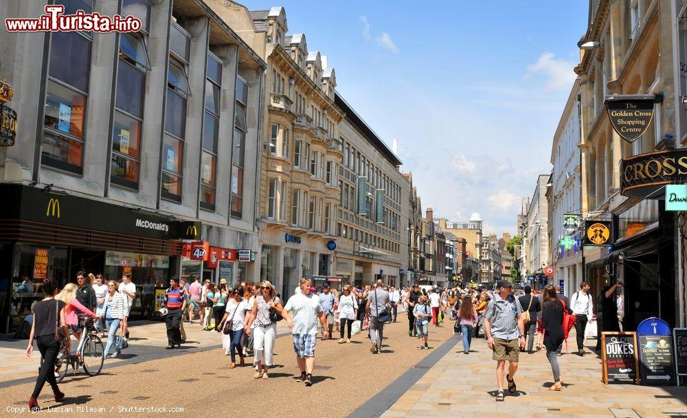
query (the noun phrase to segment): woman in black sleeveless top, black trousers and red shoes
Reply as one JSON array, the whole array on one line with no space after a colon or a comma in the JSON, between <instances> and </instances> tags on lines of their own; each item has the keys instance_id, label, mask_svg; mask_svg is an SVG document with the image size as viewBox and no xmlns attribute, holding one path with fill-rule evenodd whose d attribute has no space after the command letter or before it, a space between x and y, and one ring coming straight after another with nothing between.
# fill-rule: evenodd
<instances>
[{"instance_id":1,"label":"woman in black sleeveless top, black trousers and red shoes","mask_svg":"<svg viewBox=\"0 0 687 418\"><path fill-rule=\"evenodd\" d=\"M76 286L74 286L76 288ZM34 352L34 340L38 351L41 352L41 367L38 369L36 386L29 398L30 411L40 410L38 406L38 395L41 395L45 381L50 384L56 402L60 402L65 394L60 392L55 379L55 362L57 353L60 351L60 342L56 340L57 329L62 328L63 335L67 336L67 350L69 350L69 331L67 330L67 314L65 313L66 303L55 299L57 286L52 279L43 280L43 292L45 298L34 305L34 321L31 325L29 345L26 347L26 356L31 357Z\"/></svg>"}]
</instances>

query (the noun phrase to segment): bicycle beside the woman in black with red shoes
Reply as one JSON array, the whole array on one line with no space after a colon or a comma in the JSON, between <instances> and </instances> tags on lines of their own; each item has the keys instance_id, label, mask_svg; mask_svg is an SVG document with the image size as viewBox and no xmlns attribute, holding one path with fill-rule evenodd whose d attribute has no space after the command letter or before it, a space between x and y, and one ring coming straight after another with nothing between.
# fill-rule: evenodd
<instances>
[{"instance_id":1,"label":"bicycle beside the woman in black with red shoes","mask_svg":"<svg viewBox=\"0 0 687 418\"><path fill-rule=\"evenodd\" d=\"M55 368L57 382L62 382L70 365L74 369L73 374L75 375L79 367L83 367L89 376L97 375L102 370L102 364L105 360L104 354L104 347L93 326L93 321L90 318L85 318L84 329L74 354L69 352L66 344L60 347Z\"/></svg>"}]
</instances>

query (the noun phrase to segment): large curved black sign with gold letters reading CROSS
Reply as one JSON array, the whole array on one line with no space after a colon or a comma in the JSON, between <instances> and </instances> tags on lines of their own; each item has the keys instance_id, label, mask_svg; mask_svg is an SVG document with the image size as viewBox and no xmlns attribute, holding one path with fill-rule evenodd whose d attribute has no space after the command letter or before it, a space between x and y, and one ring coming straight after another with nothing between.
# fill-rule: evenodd
<instances>
[{"instance_id":1,"label":"large curved black sign with gold letters reading CROSS","mask_svg":"<svg viewBox=\"0 0 687 418\"><path fill-rule=\"evenodd\" d=\"M665 185L687 184L687 148L649 152L620 160L620 194L662 199Z\"/></svg>"}]
</instances>

